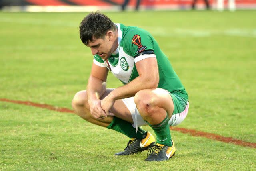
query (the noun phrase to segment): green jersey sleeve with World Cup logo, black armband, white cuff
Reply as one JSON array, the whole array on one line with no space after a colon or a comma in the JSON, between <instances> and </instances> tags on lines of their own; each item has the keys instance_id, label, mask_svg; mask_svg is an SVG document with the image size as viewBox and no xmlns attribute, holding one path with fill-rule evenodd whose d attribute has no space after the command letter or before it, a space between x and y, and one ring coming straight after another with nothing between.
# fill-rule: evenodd
<instances>
[{"instance_id":1,"label":"green jersey sleeve with World Cup logo, black armband, white cuff","mask_svg":"<svg viewBox=\"0 0 256 171\"><path fill-rule=\"evenodd\" d=\"M146 58L156 57L154 43L150 33L143 29L132 29L127 36L127 51L134 57L135 63Z\"/></svg>"}]
</instances>

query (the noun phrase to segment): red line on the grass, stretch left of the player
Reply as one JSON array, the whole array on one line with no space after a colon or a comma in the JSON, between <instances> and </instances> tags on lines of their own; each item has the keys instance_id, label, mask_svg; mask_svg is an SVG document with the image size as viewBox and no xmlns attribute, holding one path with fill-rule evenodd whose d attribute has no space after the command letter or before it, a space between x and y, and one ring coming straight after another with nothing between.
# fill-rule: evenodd
<instances>
[{"instance_id":1,"label":"red line on the grass, stretch left of the player","mask_svg":"<svg viewBox=\"0 0 256 171\"><path fill-rule=\"evenodd\" d=\"M48 105L48 104L38 104L38 103L29 102L29 101L9 100L9 99L6 99L6 98L1 98L0 101L11 102L11 103L16 103L16 104L24 104L24 105L27 105L27 106L34 106L34 107L37 107L37 108L44 108L44 109L54 110L54 111L58 111L58 112L74 113L73 110L70 110L68 108L59 108L59 107L51 106L51 105Z\"/></svg>"}]
</instances>

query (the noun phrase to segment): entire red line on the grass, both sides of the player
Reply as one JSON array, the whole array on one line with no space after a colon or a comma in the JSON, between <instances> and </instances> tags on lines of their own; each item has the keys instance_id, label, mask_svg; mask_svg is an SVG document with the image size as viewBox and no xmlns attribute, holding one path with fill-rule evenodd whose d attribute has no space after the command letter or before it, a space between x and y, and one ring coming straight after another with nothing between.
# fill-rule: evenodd
<instances>
[{"instance_id":1,"label":"entire red line on the grass, both sides of the player","mask_svg":"<svg viewBox=\"0 0 256 171\"><path fill-rule=\"evenodd\" d=\"M16 104L24 104L27 106L34 106L34 107L38 107L38 108L45 108L45 109L54 110L57 112L74 113L73 110L70 110L68 108L59 108L59 107L51 106L48 104L38 104L38 103L34 103L34 102L29 102L29 101L9 100L6 98L1 98L0 101L11 102L11 103L16 103ZM232 137L220 136L218 134L202 132L202 131L192 130L192 129L188 129L188 128L180 128L180 127L170 127L170 130L182 132L184 134L190 134L191 136L205 137L205 138L208 138L211 140L217 140L220 142L233 143L235 145L240 145L243 147L256 148L256 143L245 142L245 141L238 140L238 139L235 139Z\"/></svg>"}]
</instances>

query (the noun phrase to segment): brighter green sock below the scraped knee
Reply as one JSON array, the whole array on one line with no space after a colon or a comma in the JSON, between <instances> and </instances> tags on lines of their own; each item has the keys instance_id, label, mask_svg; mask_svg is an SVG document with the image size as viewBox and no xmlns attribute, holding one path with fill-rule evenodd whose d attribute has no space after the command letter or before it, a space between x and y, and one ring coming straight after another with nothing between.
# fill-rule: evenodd
<instances>
[{"instance_id":1,"label":"brighter green sock below the scraped knee","mask_svg":"<svg viewBox=\"0 0 256 171\"><path fill-rule=\"evenodd\" d=\"M162 145L172 146L172 138L170 133L170 128L168 125L168 114L162 122L156 125L148 124L156 134L156 143Z\"/></svg>"}]
</instances>

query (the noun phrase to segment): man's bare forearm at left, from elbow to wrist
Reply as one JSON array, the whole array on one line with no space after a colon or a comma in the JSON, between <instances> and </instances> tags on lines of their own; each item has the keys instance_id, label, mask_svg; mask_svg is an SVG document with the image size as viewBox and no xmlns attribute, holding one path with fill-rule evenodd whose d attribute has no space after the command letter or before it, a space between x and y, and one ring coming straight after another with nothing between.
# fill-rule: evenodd
<instances>
[{"instance_id":1,"label":"man's bare forearm at left, from elbow to wrist","mask_svg":"<svg viewBox=\"0 0 256 171\"><path fill-rule=\"evenodd\" d=\"M98 79L97 77L93 77L90 75L87 85L87 96L88 96L88 103L94 100L100 99L100 97L106 91L106 81Z\"/></svg>"}]
</instances>

